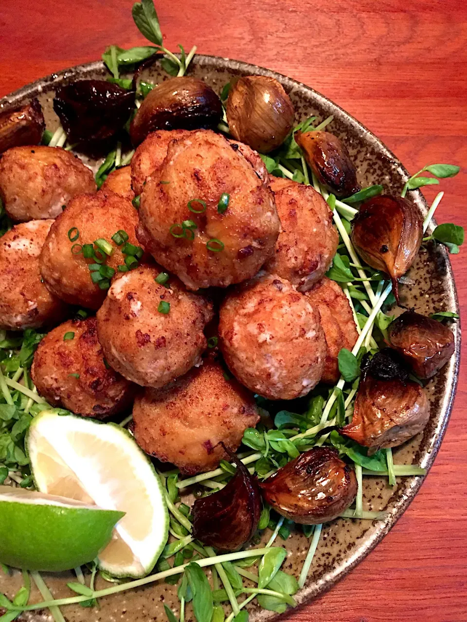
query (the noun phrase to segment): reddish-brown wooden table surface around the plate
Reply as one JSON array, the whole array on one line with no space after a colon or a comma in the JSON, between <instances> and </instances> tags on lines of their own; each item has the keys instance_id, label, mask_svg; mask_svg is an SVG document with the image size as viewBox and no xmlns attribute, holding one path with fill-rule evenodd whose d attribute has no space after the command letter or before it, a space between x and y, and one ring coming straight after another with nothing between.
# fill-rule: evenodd
<instances>
[{"instance_id":1,"label":"reddish-brown wooden table surface around the plate","mask_svg":"<svg viewBox=\"0 0 467 622\"><path fill-rule=\"evenodd\" d=\"M313 86L370 128L409 171L467 167L465 0L171 0L165 45L238 58ZM144 45L131 0L0 2L0 96ZM467 226L467 175L442 182L438 221ZM426 197L435 195L428 188ZM465 313L467 250L452 256ZM465 350L467 351L467 350ZM341 583L293 616L303 622L467 620L467 381L430 476L389 536Z\"/></svg>"}]
</instances>

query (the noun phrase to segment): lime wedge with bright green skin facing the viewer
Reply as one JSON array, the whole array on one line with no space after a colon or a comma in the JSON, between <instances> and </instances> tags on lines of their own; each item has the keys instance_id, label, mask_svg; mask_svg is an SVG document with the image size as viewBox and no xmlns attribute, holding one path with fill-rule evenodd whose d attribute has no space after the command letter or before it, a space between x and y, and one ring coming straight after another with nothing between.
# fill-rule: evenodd
<instances>
[{"instance_id":1,"label":"lime wedge with bright green skin facing the viewer","mask_svg":"<svg viewBox=\"0 0 467 622\"><path fill-rule=\"evenodd\" d=\"M0 486L0 562L61 572L92 562L123 512Z\"/></svg>"}]
</instances>

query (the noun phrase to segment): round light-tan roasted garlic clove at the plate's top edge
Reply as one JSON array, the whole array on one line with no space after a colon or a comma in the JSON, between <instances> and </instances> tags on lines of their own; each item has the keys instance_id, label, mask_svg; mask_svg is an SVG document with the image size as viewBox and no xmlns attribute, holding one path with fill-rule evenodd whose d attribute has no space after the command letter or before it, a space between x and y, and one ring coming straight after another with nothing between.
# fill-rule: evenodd
<instances>
[{"instance_id":1,"label":"round light-tan roasted garlic clove at the plate's top edge","mask_svg":"<svg viewBox=\"0 0 467 622\"><path fill-rule=\"evenodd\" d=\"M294 119L283 86L266 76L237 80L230 88L226 114L232 136L264 154L284 142Z\"/></svg>"}]
</instances>

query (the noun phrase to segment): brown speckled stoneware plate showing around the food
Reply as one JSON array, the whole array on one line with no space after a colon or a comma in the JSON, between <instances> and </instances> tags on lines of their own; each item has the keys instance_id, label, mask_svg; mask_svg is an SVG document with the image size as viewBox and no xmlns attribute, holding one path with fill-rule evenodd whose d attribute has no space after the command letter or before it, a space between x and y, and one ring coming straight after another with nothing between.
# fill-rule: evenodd
<instances>
[{"instance_id":1,"label":"brown speckled stoneware plate showing around the food","mask_svg":"<svg viewBox=\"0 0 467 622\"><path fill-rule=\"evenodd\" d=\"M52 109L55 86L84 78L105 78L107 75L108 72L101 62L74 67L39 80L16 93L12 93L12 95L6 96L0 100L0 110L17 106L37 96L44 108L47 128L54 131L58 125L57 116ZM407 171L399 160L375 136L336 104L308 86L254 65L200 55L194 58L189 69L189 75L202 78L217 93L220 93L222 87L232 77L265 75L276 78L289 93L295 106L296 123L312 114L316 115L319 121L323 121L329 114L334 115L334 120L327 129L345 142L352 159L357 164L359 182L361 182L362 187L382 183L385 193L399 195L403 183L408 178ZM166 80L167 74L161 70L157 62L153 67L143 72L144 78L158 83ZM97 162L88 163L98 164ZM425 203L422 194L416 191L410 192L409 195L409 200L415 202L425 216L427 203ZM434 223L432 223L433 225ZM422 249L415 265L410 269L408 277L411 284L401 287L404 305L413 306L415 310L425 314L434 310L459 311L453 273L443 246L434 247L430 244L427 249ZM461 334L458 320L451 323L451 329L455 334L455 356L441 370L441 373L427 385L431 402L430 422L422 434L394 450L395 463L413 463L424 466L428 470L438 452L453 404L459 367ZM397 486L393 489L387 485L387 478L364 477L364 509L385 509L387 511L386 518L374 522L337 519L326 524L323 527L323 535L313 559L308 581L304 588L296 594L298 603L306 603L314 596L324 592L343 577L346 572L349 572L354 565L358 564L399 519L417 494L422 481L422 477L397 478ZM279 540L278 544L283 543ZM289 554L284 569L287 572L294 573L298 577L308 545L309 542L301 533L291 534L286 542ZM55 597L70 595L70 591L65 585L66 581L70 580L67 573L58 576L44 574L44 578ZM98 588L102 587L101 583L105 582L100 580ZM6 592L8 596L12 596L20 584L21 578L18 575L5 577L1 573L1 592ZM35 602L41 600L38 593L32 596ZM174 610L178 610L176 587L166 585L166 583L149 585L133 592L101 599L100 610L84 609L73 605L64 608L64 613L70 622L81 620L89 622L98 620L102 622L115 620L121 622L159 621L166 619L163 602L173 606ZM293 610L290 610L286 615L293 615ZM250 608L251 621L277 617L277 614L261 610L253 604ZM326 616L324 615L324 617ZM24 615L19 619L47 620L49 619L49 612L40 611L34 615ZM192 620L190 610L187 611L188 620Z\"/></svg>"}]
</instances>

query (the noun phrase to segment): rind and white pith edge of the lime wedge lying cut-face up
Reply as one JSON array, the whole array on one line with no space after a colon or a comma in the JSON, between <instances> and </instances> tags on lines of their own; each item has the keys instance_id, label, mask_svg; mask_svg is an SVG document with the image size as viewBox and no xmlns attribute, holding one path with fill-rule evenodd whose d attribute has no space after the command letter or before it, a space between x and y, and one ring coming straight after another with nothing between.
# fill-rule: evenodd
<instances>
[{"instance_id":1,"label":"rind and white pith edge of the lime wedge lying cut-face up","mask_svg":"<svg viewBox=\"0 0 467 622\"><path fill-rule=\"evenodd\" d=\"M32 477L38 490L40 490L40 476L37 476L37 474L35 473L34 460L32 460L32 453L34 452L31 452L30 448L31 443L34 443L34 435L36 434L37 429L40 429L41 420L45 420L46 417L51 416L59 417L59 415L50 411L43 411L39 415L37 415L31 422L31 426L29 427L25 440L26 453L31 460ZM59 419L65 419L70 421L71 429L73 429L74 427L74 420L76 420L77 423L83 422L83 417L79 417L77 415L67 415L66 417L60 416ZM149 559L146 559L144 565L135 564L131 568L126 567L126 569L119 567L118 564L108 564L103 559L98 560L99 567L113 577L145 577L149 574L149 572L151 572L151 570L153 570L154 565L156 565L156 562L158 561L161 553L163 552L164 546L166 545L167 539L169 537L169 512L164 496L164 486L161 483L161 479L159 478L159 475L156 472L154 465L149 459L148 455L146 455L146 453L144 453L143 450L141 450L141 448L136 444L133 436L130 434L130 432L128 432L128 430L123 429L117 424L105 424L101 421L93 419L85 419L85 422L85 425L99 425L102 431L108 428L114 431L118 431L118 434L121 435L121 443L118 442L118 444L121 445L121 454L123 455L124 453L127 453L127 457L132 457L133 460L136 460L136 462L141 462L141 468L138 468L137 474L139 475L141 471L146 471L146 474L144 475L144 481L147 482L150 478L151 482L153 483L153 495L151 496L151 501L154 506L154 511L156 511L156 513L158 514L158 521L155 528L153 528L153 531L148 537L148 542L146 545L146 550L151 549L151 556L149 557ZM79 473L76 473L76 475L79 476Z\"/></svg>"}]
</instances>

